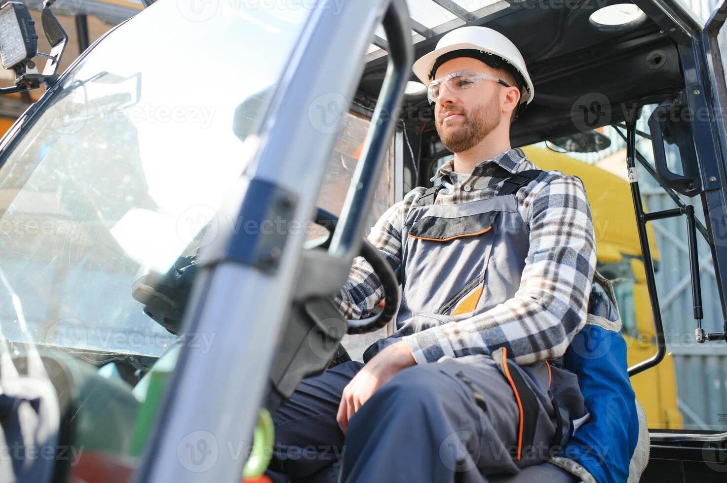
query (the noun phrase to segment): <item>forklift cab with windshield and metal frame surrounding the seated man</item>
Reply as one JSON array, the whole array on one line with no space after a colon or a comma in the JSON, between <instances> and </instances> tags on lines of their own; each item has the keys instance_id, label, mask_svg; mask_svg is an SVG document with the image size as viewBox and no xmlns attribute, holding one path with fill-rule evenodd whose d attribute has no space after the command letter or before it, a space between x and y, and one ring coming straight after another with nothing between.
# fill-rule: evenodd
<instances>
[{"instance_id":1,"label":"forklift cab with windshield and metal frame surrounding the seated man","mask_svg":"<svg viewBox=\"0 0 727 483\"><path fill-rule=\"evenodd\" d=\"M25 397L60 419L46 441L88 448L45 478L260 475L265 408L395 316L366 230L451 155L414 58L486 25L537 91L511 145L581 176L598 212L650 423L641 481L723 479L724 0L702 17L680 0L148 3L64 73L52 1L41 54L22 4L0 7L17 78L0 92L47 85L0 141L0 376L39 384ZM190 62L204 82L178 75ZM371 320L332 304L356 256L385 285Z\"/></svg>"}]
</instances>

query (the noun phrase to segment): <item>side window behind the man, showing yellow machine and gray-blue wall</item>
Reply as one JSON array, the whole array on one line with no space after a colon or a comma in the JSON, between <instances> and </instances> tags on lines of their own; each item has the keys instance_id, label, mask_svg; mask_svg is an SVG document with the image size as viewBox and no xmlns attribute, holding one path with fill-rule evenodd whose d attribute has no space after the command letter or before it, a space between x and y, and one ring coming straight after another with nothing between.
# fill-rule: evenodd
<instances>
[{"instance_id":1,"label":"side window behind the man, showing yellow machine and gray-blue wall","mask_svg":"<svg viewBox=\"0 0 727 483\"><path fill-rule=\"evenodd\" d=\"M656 105L648 105L636 129L648 133L648 117ZM573 163L546 161L553 154L543 151L537 159L541 168L561 169L581 176L593 212L598 243L598 270L613 283L629 346L628 362L634 365L656 352L654 319L648 299L646 275L641 256L632 197L627 182L626 144L614 126L599 129L611 145L598 153L562 153L564 157L601 169L596 178ZM621 129L625 132L624 129ZM654 166L651 141L637 136L637 150ZM538 143L546 147L547 143ZM665 145L667 164L681 173L676 145ZM527 153L527 151L526 151ZM568 171L568 170L571 171ZM580 172L579 172L580 171ZM677 205L651 175L637 163L639 186L646 211L675 208ZM611 176L608 176L611 175ZM601 178L601 181L597 181ZM694 206L704 222L701 200L680 197ZM727 429L727 357L718 343L697 344L696 322L691 301L691 278L686 238L686 218L657 220L647 225L651 253L656 268L656 288L664 322L667 357L655 368L632 378L638 400L646 410L648 426L654 429ZM723 319L712 255L707 242L698 234L699 271L705 330L721 330Z\"/></svg>"}]
</instances>

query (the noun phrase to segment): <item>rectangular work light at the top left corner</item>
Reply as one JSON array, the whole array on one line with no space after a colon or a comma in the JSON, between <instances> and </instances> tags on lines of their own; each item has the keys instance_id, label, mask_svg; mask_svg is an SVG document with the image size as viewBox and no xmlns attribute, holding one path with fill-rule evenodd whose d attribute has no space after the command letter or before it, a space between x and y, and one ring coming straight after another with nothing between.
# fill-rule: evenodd
<instances>
[{"instance_id":1,"label":"rectangular work light at the top left corner","mask_svg":"<svg viewBox=\"0 0 727 483\"><path fill-rule=\"evenodd\" d=\"M35 21L28 7L9 1L0 7L0 60L4 69L31 59L38 51Z\"/></svg>"}]
</instances>

